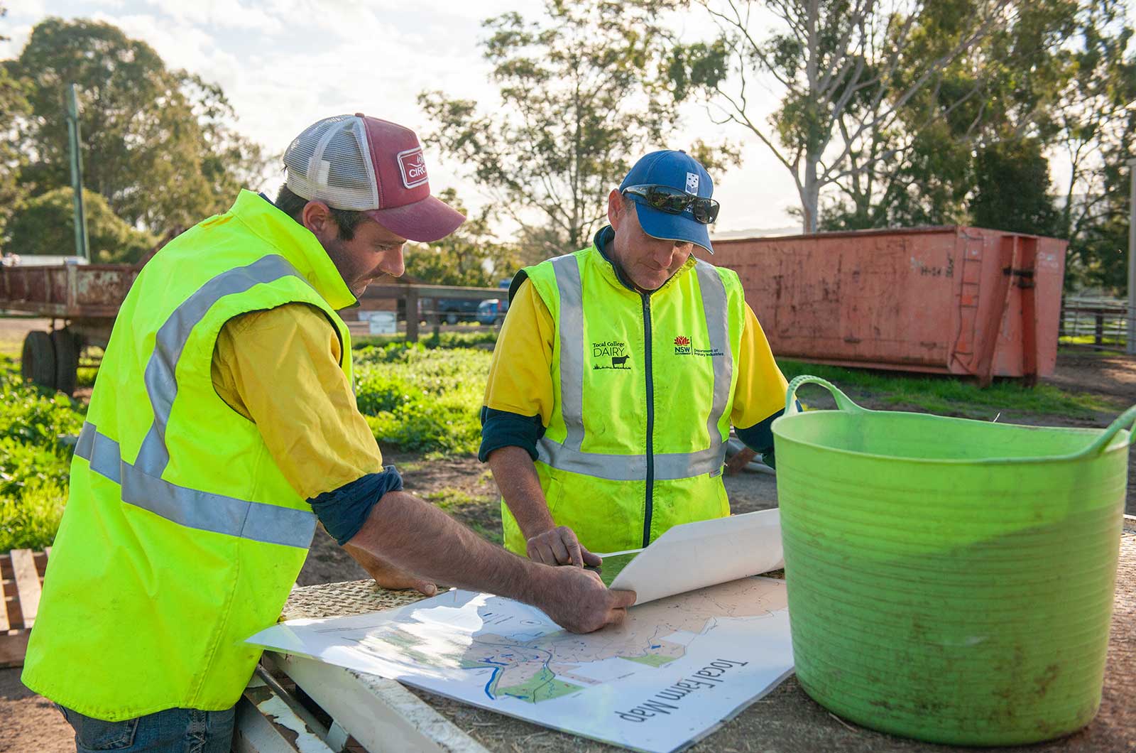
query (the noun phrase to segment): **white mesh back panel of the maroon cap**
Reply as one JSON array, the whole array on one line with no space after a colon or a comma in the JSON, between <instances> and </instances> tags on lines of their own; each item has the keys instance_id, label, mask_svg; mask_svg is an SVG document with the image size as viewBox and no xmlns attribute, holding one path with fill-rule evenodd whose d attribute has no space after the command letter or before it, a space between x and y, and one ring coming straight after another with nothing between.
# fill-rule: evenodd
<instances>
[{"instance_id":1,"label":"white mesh back panel of the maroon cap","mask_svg":"<svg viewBox=\"0 0 1136 753\"><path fill-rule=\"evenodd\" d=\"M298 135L284 151L287 187L336 209L377 209L378 190L362 121L336 115Z\"/></svg>"}]
</instances>

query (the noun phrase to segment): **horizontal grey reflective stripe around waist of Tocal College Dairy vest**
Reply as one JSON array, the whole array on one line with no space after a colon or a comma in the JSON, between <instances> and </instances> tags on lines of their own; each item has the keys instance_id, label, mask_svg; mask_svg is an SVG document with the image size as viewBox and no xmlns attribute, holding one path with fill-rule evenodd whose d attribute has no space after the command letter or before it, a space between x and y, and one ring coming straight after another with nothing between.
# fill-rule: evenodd
<instances>
[{"instance_id":1,"label":"horizontal grey reflective stripe around waist of Tocal College Dairy vest","mask_svg":"<svg viewBox=\"0 0 1136 753\"><path fill-rule=\"evenodd\" d=\"M542 437L536 442L537 458L552 467L583 473L610 481L643 481L646 479L646 455L604 455L582 453L560 442ZM696 453L665 453L654 455L654 479L674 481L711 473L726 460L726 447L710 447Z\"/></svg>"}]
</instances>

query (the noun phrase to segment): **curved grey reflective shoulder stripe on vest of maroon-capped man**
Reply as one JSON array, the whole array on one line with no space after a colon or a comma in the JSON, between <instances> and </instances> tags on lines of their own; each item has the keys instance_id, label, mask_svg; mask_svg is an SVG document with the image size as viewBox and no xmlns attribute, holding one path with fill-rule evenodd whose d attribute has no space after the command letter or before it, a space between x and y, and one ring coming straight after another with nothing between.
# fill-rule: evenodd
<instances>
[{"instance_id":1,"label":"curved grey reflective shoulder stripe on vest of maroon-capped man","mask_svg":"<svg viewBox=\"0 0 1136 753\"><path fill-rule=\"evenodd\" d=\"M178 306L154 336L153 354L145 366L145 391L153 408L153 424L142 440L135 464L152 477L160 477L169 463L166 427L177 397L177 362L193 328L214 304L249 290L253 286L294 276L308 281L283 256L264 256L252 264L226 270L201 286Z\"/></svg>"}]
</instances>

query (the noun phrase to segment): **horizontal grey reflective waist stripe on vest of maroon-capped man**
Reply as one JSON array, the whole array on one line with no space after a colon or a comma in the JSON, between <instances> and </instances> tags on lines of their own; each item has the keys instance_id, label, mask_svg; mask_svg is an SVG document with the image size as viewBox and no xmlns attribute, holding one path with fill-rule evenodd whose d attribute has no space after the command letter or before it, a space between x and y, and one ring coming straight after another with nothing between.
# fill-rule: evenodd
<instances>
[{"instance_id":1,"label":"horizontal grey reflective waist stripe on vest of maroon-capped man","mask_svg":"<svg viewBox=\"0 0 1136 753\"><path fill-rule=\"evenodd\" d=\"M99 475L122 485L123 502L178 526L301 549L311 545L316 532L316 515L307 510L187 489L149 475L123 461L118 442L92 423L83 424L75 454Z\"/></svg>"}]
</instances>

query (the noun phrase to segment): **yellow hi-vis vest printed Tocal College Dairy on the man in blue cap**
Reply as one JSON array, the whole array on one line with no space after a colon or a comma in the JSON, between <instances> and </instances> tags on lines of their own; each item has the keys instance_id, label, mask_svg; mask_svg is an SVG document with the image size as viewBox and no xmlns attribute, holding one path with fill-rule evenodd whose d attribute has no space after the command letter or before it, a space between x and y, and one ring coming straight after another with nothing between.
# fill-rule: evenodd
<instances>
[{"instance_id":1,"label":"yellow hi-vis vest printed Tocal College Dairy on the man in blue cap","mask_svg":"<svg viewBox=\"0 0 1136 753\"><path fill-rule=\"evenodd\" d=\"M554 407L536 472L558 526L592 552L646 546L729 514L721 482L745 297L691 257L659 290L628 289L592 248L525 268L556 322ZM501 505L506 547L525 537Z\"/></svg>"}]
</instances>

